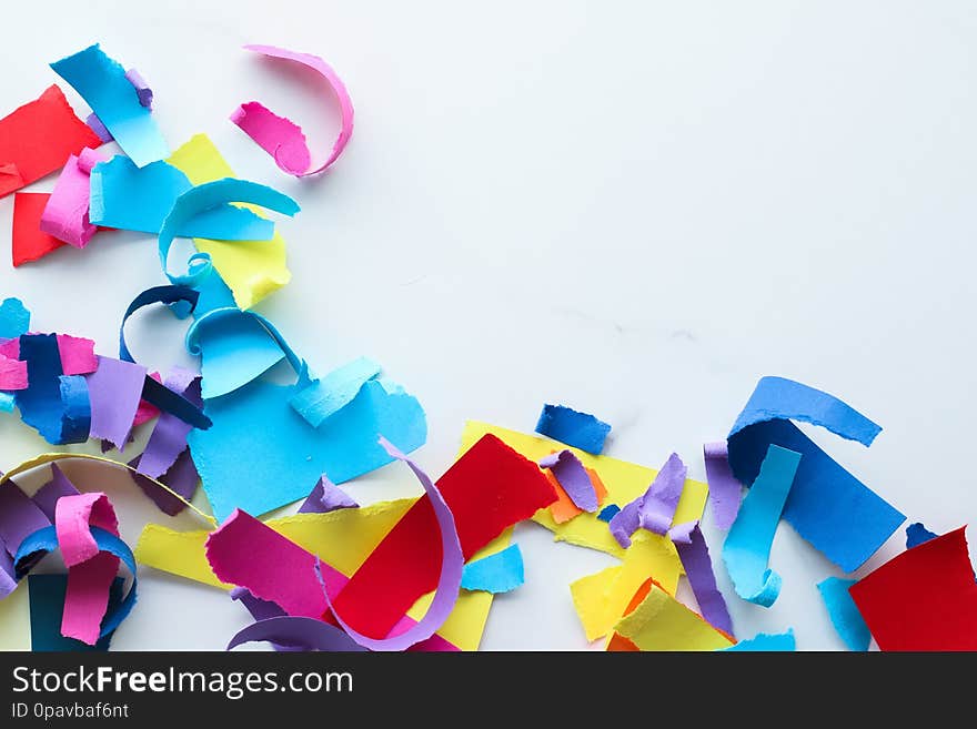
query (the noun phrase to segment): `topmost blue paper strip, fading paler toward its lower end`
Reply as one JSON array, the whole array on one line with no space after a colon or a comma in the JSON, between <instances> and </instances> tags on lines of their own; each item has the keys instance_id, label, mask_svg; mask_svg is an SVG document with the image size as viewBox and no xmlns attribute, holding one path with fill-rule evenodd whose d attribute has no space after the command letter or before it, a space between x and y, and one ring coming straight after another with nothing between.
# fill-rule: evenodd
<instances>
[{"instance_id":1,"label":"topmost blue paper strip, fading paler toward its lower end","mask_svg":"<svg viewBox=\"0 0 977 729\"><path fill-rule=\"evenodd\" d=\"M51 68L81 94L138 166L170 156L167 140L150 110L139 102L125 69L105 55L98 43L54 61Z\"/></svg>"}]
</instances>

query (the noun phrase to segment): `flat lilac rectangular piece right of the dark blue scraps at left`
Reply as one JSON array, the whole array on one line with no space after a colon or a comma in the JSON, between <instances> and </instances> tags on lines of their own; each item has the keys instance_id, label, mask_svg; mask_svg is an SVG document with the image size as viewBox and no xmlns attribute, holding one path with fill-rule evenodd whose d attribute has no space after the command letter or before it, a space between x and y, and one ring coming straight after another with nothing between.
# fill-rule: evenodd
<instances>
[{"instance_id":1,"label":"flat lilac rectangular piece right of the dark blue scraps at left","mask_svg":"<svg viewBox=\"0 0 977 729\"><path fill-rule=\"evenodd\" d=\"M99 356L99 368L84 376L91 398L91 437L104 438L119 450L125 447L145 374L141 365Z\"/></svg>"}]
</instances>

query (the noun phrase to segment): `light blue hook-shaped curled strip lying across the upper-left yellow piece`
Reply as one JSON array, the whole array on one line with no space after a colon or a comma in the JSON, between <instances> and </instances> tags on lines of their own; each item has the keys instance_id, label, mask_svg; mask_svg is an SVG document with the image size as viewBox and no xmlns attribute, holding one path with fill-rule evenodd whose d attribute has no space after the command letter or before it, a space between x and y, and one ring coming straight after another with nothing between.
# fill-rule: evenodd
<instances>
[{"instance_id":1,"label":"light blue hook-shaped curled strip lying across the upper-left yellow piece","mask_svg":"<svg viewBox=\"0 0 977 729\"><path fill-rule=\"evenodd\" d=\"M167 215L167 220L163 221L160 229L160 265L172 283L197 286L210 273L213 267L210 254L194 253L188 261L185 274L171 274L168 266L170 247L173 245L173 239L179 235L179 231L190 221L202 220L226 203L259 205L283 215L294 215L301 210L299 203L278 190L246 180L223 178L191 188L177 198L170 214ZM268 237L270 239L271 235Z\"/></svg>"}]
</instances>

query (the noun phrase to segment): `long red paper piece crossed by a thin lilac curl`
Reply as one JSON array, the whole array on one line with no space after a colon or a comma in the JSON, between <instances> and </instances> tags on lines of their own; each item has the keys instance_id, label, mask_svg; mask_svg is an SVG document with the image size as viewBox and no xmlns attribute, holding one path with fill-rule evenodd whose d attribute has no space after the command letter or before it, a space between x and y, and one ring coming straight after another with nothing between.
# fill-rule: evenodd
<instances>
[{"instance_id":1,"label":"long red paper piece crossed by a thin lilac curl","mask_svg":"<svg viewBox=\"0 0 977 729\"><path fill-rule=\"evenodd\" d=\"M437 479L454 515L465 560L516 522L556 500L532 460L484 435ZM441 531L426 496L391 529L333 600L355 630L382 638L437 586Z\"/></svg>"}]
</instances>

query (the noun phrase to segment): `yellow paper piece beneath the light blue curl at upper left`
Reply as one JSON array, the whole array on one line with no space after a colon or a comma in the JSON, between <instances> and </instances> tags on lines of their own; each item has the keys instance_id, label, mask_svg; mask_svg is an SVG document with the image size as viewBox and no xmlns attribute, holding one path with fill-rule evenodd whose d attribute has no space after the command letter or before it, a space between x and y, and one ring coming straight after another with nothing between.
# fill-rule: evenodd
<instances>
[{"instance_id":1,"label":"yellow paper piece beneath the light blue curl at upper left","mask_svg":"<svg viewBox=\"0 0 977 729\"><path fill-rule=\"evenodd\" d=\"M233 170L207 134L193 135L167 161L194 185L234 176ZM260 207L241 206L261 215ZM292 280L292 273L285 265L285 241L278 232L270 241L193 239L193 242L199 251L210 254L240 308L251 308Z\"/></svg>"}]
</instances>

